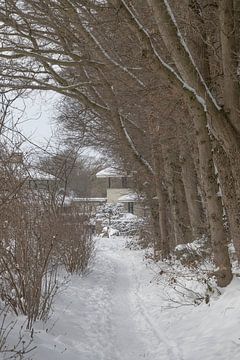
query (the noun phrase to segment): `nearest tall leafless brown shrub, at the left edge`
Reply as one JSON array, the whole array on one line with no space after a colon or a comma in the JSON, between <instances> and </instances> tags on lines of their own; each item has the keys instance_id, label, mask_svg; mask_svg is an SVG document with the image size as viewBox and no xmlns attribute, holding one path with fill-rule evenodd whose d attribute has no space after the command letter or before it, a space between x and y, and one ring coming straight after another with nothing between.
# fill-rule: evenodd
<instances>
[{"instance_id":1,"label":"nearest tall leafless brown shrub, at the left edge","mask_svg":"<svg viewBox=\"0 0 240 360\"><path fill-rule=\"evenodd\" d=\"M27 327L45 320L58 289L52 261L56 216L51 196L32 189L23 164L1 161L0 174L0 298Z\"/></svg>"}]
</instances>

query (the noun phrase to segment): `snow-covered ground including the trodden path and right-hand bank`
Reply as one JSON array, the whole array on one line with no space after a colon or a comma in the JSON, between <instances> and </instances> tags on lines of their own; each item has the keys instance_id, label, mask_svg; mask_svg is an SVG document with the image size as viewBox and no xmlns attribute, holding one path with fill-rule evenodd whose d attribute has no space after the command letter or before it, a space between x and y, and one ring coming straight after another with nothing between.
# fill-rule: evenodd
<instances>
[{"instance_id":1,"label":"snow-covered ground including the trodden path and right-hand bank","mask_svg":"<svg viewBox=\"0 0 240 360\"><path fill-rule=\"evenodd\" d=\"M239 360L240 281L198 307L169 308L142 251L100 238L92 272L73 277L37 324L34 360Z\"/></svg>"}]
</instances>

